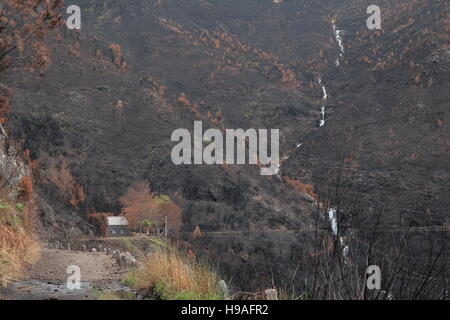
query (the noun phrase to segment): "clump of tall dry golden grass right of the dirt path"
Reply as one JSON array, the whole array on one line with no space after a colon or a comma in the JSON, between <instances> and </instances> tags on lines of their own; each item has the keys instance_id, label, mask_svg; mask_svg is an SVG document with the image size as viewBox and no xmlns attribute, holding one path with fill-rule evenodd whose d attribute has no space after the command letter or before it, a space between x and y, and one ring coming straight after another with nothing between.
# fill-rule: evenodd
<instances>
[{"instance_id":1,"label":"clump of tall dry golden grass right of the dirt path","mask_svg":"<svg viewBox=\"0 0 450 320\"><path fill-rule=\"evenodd\" d=\"M175 249L159 250L147 256L132 277L138 289L152 289L164 300L221 298L214 269Z\"/></svg>"}]
</instances>

